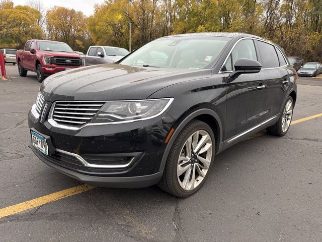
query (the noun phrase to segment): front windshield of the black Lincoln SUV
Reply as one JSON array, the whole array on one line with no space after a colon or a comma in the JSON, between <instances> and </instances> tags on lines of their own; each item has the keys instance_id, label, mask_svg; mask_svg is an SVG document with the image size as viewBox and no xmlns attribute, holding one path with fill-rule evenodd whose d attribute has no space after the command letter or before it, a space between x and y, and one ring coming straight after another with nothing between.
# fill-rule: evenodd
<instances>
[{"instance_id":1,"label":"front windshield of the black Lincoln SUV","mask_svg":"<svg viewBox=\"0 0 322 242\"><path fill-rule=\"evenodd\" d=\"M179 36L156 39L119 64L137 67L203 69L214 62L230 38Z\"/></svg>"}]
</instances>

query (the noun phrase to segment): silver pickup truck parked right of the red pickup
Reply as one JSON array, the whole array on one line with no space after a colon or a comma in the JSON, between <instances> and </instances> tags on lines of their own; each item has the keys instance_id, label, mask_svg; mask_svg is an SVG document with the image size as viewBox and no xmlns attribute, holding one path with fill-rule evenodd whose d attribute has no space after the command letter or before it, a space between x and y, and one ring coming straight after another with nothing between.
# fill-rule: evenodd
<instances>
[{"instance_id":1,"label":"silver pickup truck parked right of the red pickup","mask_svg":"<svg viewBox=\"0 0 322 242\"><path fill-rule=\"evenodd\" d=\"M86 66L114 63L129 53L128 50L111 46L90 46L85 56Z\"/></svg>"}]
</instances>

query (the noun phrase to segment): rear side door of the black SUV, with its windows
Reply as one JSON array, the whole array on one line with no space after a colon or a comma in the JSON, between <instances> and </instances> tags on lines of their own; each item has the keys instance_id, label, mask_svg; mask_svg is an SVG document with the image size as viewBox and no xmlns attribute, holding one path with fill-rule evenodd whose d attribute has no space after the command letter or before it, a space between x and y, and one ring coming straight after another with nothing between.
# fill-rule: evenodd
<instances>
[{"instance_id":1,"label":"rear side door of the black SUV, with its windows","mask_svg":"<svg viewBox=\"0 0 322 242\"><path fill-rule=\"evenodd\" d=\"M285 99L286 90L289 87L289 75L286 69L287 63L282 52L274 45L257 40L260 53L260 72L262 83L266 85L264 109L267 113L260 119L264 121L279 114Z\"/></svg>"}]
</instances>

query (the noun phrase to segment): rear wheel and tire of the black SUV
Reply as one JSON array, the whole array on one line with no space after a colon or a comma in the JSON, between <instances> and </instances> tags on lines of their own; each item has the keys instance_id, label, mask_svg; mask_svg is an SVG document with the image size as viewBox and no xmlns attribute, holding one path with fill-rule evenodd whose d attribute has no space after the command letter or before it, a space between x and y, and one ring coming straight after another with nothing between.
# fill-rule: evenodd
<instances>
[{"instance_id":1,"label":"rear wheel and tire of the black SUV","mask_svg":"<svg viewBox=\"0 0 322 242\"><path fill-rule=\"evenodd\" d=\"M275 136L286 135L288 129L290 128L292 117L293 117L293 106L294 101L292 97L288 97L284 104L283 112L276 124L266 128L267 133Z\"/></svg>"}]
</instances>

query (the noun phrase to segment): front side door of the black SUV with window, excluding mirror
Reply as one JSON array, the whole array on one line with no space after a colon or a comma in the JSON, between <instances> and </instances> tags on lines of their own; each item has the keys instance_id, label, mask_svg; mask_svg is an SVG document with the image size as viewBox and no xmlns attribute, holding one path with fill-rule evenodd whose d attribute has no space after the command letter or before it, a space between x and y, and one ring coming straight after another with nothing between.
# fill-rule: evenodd
<instances>
[{"instance_id":1,"label":"front side door of the black SUV with window, excluding mirror","mask_svg":"<svg viewBox=\"0 0 322 242\"><path fill-rule=\"evenodd\" d=\"M240 40L221 70L226 77L227 91L225 140L253 128L260 123L261 116L265 114L265 83L261 81L261 74L229 77L235 62L240 58L259 60L253 39Z\"/></svg>"}]
</instances>

